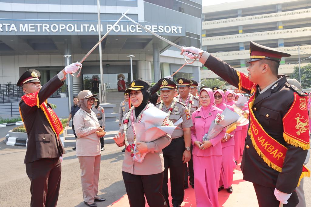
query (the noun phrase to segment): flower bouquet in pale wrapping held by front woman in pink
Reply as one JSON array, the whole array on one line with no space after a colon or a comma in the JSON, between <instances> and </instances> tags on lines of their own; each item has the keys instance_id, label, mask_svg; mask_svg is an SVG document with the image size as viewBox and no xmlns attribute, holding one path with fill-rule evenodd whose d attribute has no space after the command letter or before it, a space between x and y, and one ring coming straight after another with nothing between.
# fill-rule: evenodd
<instances>
[{"instance_id":1,"label":"flower bouquet in pale wrapping held by front woman in pink","mask_svg":"<svg viewBox=\"0 0 311 207\"><path fill-rule=\"evenodd\" d=\"M223 128L235 123L239 119L239 115L228 108L219 114L217 113L215 120L211 123L208 133L202 138L202 141L207 141L215 138Z\"/></svg>"}]
</instances>

